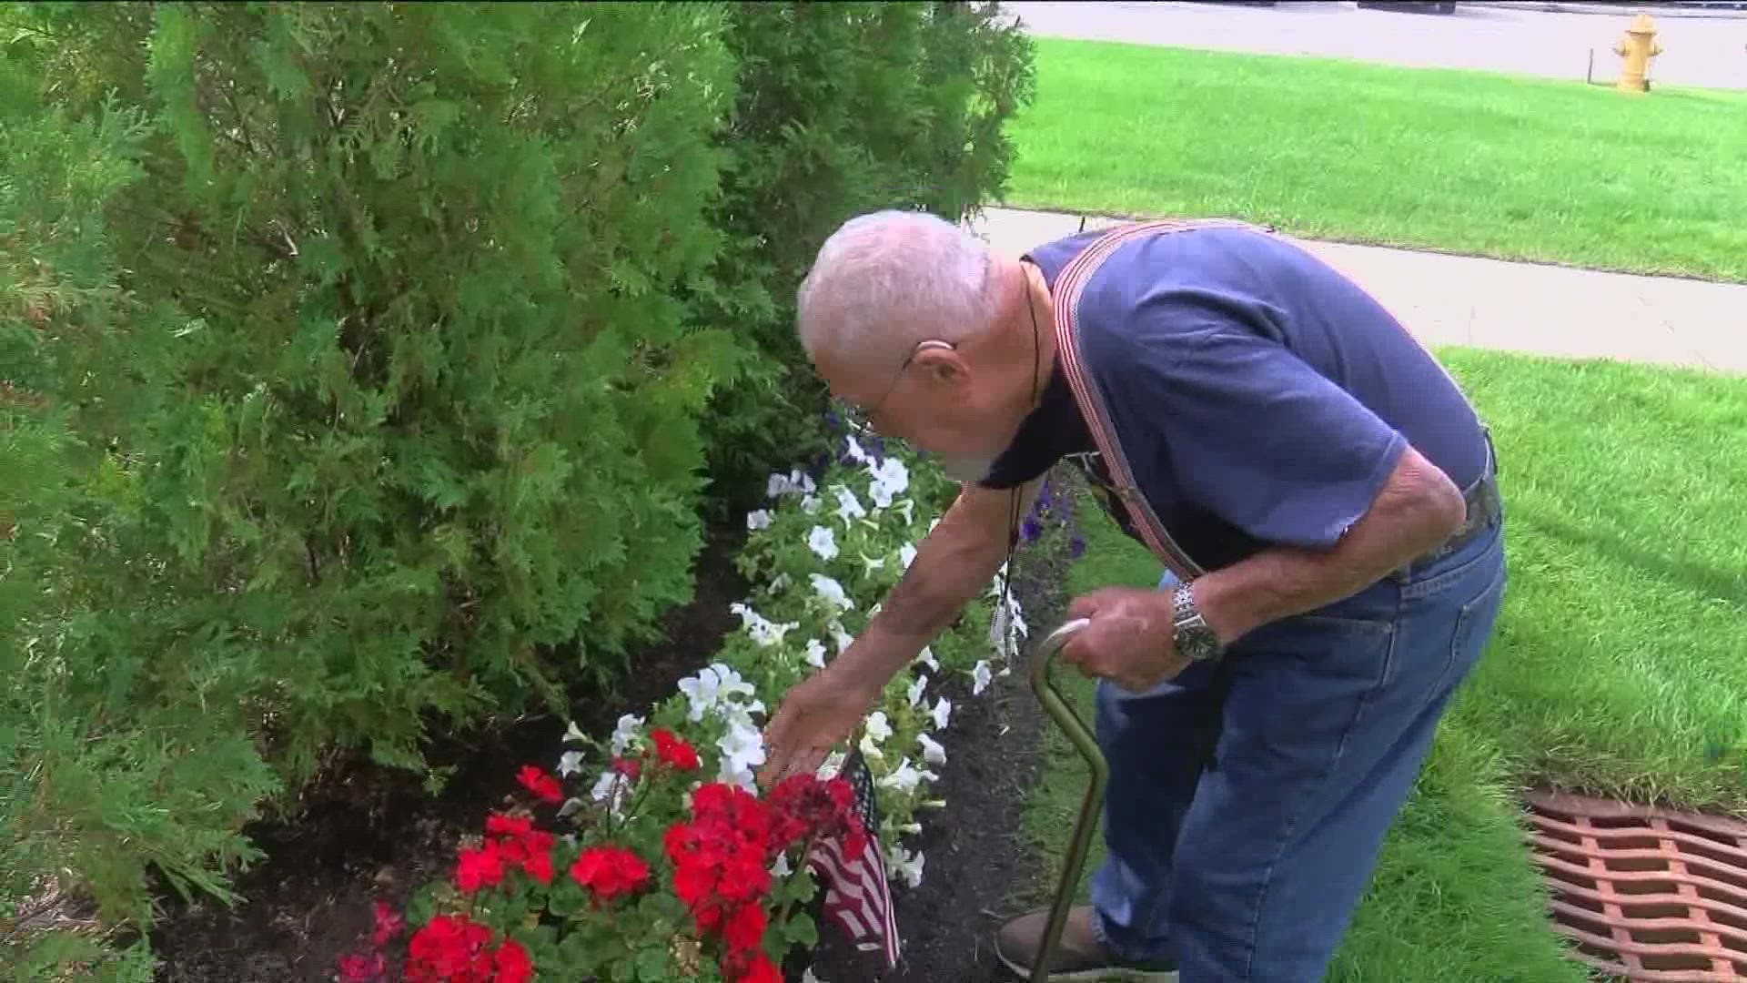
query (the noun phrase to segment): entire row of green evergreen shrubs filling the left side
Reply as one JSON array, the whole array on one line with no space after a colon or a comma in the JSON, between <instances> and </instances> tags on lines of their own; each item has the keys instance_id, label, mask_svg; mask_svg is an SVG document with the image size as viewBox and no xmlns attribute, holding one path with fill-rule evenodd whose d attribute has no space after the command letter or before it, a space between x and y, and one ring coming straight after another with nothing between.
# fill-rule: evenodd
<instances>
[{"instance_id":1,"label":"entire row of green evergreen shrubs filling the left side","mask_svg":"<svg viewBox=\"0 0 1747 983\"><path fill-rule=\"evenodd\" d=\"M992 3L0 7L0 896L227 897L335 750L615 673L812 441L812 250L1029 84Z\"/></svg>"}]
</instances>

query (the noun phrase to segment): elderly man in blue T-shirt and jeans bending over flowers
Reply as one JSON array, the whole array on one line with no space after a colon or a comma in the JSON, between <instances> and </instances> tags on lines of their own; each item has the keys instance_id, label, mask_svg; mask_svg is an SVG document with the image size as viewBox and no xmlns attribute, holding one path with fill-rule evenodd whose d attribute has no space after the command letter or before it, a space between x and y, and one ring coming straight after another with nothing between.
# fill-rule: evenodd
<instances>
[{"instance_id":1,"label":"elderly man in blue T-shirt and jeans bending over flowers","mask_svg":"<svg viewBox=\"0 0 1747 983\"><path fill-rule=\"evenodd\" d=\"M1492 443L1357 285L1237 222L1020 259L940 219L842 226L800 289L833 395L963 493L860 638L790 691L765 778L814 768L977 595L1076 462L1165 567L1074 598L1108 861L1055 980L1315 981L1504 591ZM996 952L1031 971L1041 911Z\"/></svg>"}]
</instances>

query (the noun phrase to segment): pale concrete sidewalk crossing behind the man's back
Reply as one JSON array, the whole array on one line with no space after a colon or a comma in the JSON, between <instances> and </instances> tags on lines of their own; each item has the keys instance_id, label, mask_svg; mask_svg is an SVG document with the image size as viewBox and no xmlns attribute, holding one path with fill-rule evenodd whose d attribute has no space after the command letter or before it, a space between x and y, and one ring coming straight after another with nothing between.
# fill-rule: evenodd
<instances>
[{"instance_id":1,"label":"pale concrete sidewalk crossing behind the man's back","mask_svg":"<svg viewBox=\"0 0 1747 983\"><path fill-rule=\"evenodd\" d=\"M1080 222L1080 215L989 208L977 231L996 250L1019 255L1073 234ZM1116 222L1087 217L1085 227ZM1300 241L1427 345L1747 373L1742 283Z\"/></svg>"}]
</instances>

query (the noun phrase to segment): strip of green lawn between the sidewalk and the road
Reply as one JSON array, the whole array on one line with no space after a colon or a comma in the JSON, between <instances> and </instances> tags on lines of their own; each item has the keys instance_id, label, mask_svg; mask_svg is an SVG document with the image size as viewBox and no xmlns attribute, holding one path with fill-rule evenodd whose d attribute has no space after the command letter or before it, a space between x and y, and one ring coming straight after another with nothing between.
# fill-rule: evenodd
<instances>
[{"instance_id":1,"label":"strip of green lawn between the sidewalk and the road","mask_svg":"<svg viewBox=\"0 0 1747 983\"><path fill-rule=\"evenodd\" d=\"M1008 205L1747 282L1747 93L1038 38Z\"/></svg>"}]
</instances>

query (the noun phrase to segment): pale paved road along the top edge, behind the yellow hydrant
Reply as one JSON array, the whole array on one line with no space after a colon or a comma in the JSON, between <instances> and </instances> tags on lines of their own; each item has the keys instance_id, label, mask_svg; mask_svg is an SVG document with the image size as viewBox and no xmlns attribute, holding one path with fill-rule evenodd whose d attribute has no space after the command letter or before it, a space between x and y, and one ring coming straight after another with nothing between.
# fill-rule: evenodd
<instances>
[{"instance_id":1,"label":"pale paved road along the top edge, behind the yellow hydrant","mask_svg":"<svg viewBox=\"0 0 1747 983\"><path fill-rule=\"evenodd\" d=\"M1389 65L1481 68L1550 79L1612 80L1621 16L1550 14L1462 3L1455 14L1361 10L1356 3L1006 3L1043 37L1315 54ZM1747 89L1747 19L1661 17L1651 82Z\"/></svg>"}]
</instances>

